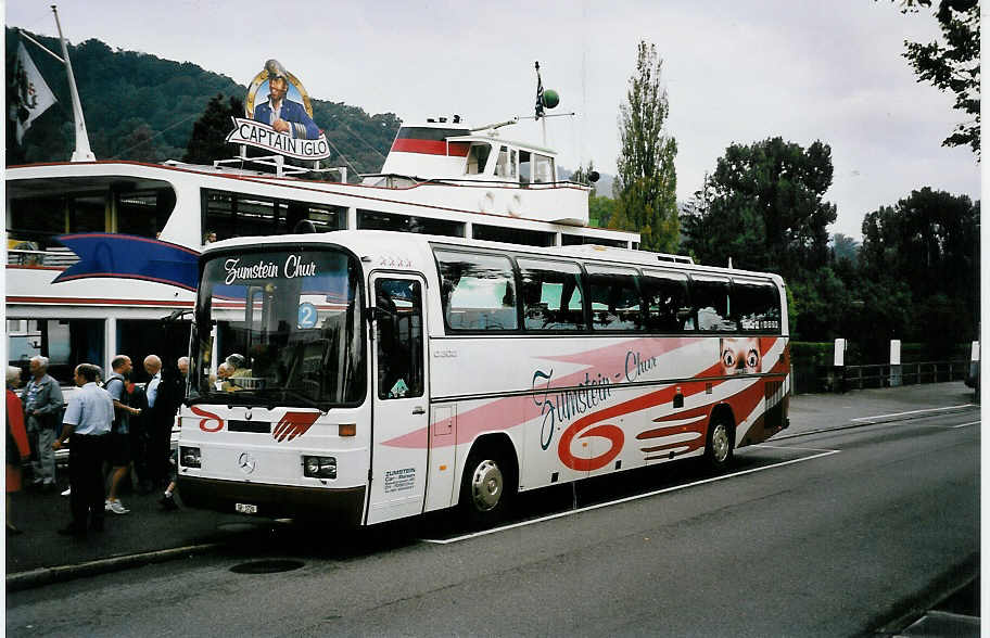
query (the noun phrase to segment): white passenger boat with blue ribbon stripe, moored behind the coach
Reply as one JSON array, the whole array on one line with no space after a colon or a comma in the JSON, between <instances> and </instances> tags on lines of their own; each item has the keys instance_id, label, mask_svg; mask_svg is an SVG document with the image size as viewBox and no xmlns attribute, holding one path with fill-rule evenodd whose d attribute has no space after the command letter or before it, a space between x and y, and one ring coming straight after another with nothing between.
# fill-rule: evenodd
<instances>
[{"instance_id":1,"label":"white passenger boat with blue ribbon stripe, moored behind the coach","mask_svg":"<svg viewBox=\"0 0 990 638\"><path fill-rule=\"evenodd\" d=\"M11 361L125 353L166 365L188 350L196 258L217 239L342 229L405 230L536 246L635 248L636 233L588 226L587 186L556 154L459 118L403 126L382 171L312 181L215 163L82 162L9 167L7 319ZM167 320L172 318L173 320Z\"/></svg>"}]
</instances>

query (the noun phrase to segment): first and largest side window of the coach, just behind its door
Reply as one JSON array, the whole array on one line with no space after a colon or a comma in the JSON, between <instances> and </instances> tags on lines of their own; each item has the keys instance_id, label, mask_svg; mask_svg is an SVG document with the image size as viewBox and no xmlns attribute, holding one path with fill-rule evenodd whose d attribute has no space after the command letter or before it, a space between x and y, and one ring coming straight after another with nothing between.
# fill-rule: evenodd
<instances>
[{"instance_id":1,"label":"first and largest side window of the coach, just behind its door","mask_svg":"<svg viewBox=\"0 0 990 638\"><path fill-rule=\"evenodd\" d=\"M516 330L516 279L504 255L435 250L444 321L452 330Z\"/></svg>"}]
</instances>

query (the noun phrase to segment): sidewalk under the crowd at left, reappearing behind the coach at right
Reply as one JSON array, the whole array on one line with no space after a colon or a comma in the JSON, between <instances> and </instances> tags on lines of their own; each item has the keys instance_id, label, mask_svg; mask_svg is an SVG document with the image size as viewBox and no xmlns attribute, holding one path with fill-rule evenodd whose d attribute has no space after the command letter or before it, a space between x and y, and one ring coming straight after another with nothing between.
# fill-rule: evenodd
<instances>
[{"instance_id":1,"label":"sidewalk under the crowd at left, reappearing behind the coach at right","mask_svg":"<svg viewBox=\"0 0 990 638\"><path fill-rule=\"evenodd\" d=\"M904 412L932 408L976 410L975 407L961 407L973 404L973 391L961 381L847 394L798 395L790 398L790 428L775 439L876 421L852 419L910 419L921 414ZM973 419L978 418L978 412L974 412ZM155 492L145 496L122 495L130 513L107 512L103 533L90 533L86 540L60 536L56 529L69 521L68 499L59 496L65 488L67 473L60 471L60 478L58 492L39 493L27 488L12 495L11 519L24 534L7 537L8 591L207 551L254 527L251 519L240 514L186 508L163 512L157 503L162 495Z\"/></svg>"}]
</instances>

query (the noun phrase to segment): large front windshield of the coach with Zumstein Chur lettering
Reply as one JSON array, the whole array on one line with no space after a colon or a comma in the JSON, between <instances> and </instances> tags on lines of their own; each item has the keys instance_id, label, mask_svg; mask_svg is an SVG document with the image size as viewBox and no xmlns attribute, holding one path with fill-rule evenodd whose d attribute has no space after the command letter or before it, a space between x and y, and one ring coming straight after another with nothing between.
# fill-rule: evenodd
<instances>
[{"instance_id":1,"label":"large front windshield of the coach with Zumstein Chur lettering","mask_svg":"<svg viewBox=\"0 0 990 638\"><path fill-rule=\"evenodd\" d=\"M360 403L360 266L331 247L210 258L196 299L190 399L326 409Z\"/></svg>"}]
</instances>

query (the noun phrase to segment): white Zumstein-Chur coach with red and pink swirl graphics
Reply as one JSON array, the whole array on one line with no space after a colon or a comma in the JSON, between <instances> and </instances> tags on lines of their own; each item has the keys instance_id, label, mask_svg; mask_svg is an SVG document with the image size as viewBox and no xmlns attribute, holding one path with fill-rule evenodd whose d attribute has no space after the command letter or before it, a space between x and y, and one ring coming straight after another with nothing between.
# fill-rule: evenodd
<instances>
[{"instance_id":1,"label":"white Zumstein-Chur coach with red and pink swirl graphics","mask_svg":"<svg viewBox=\"0 0 990 638\"><path fill-rule=\"evenodd\" d=\"M621 247L221 241L200 258L192 358L182 499L267 518L485 522L556 483L722 469L787 426L780 278Z\"/></svg>"}]
</instances>

